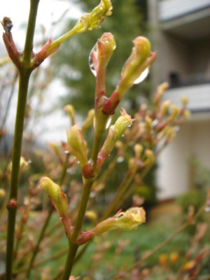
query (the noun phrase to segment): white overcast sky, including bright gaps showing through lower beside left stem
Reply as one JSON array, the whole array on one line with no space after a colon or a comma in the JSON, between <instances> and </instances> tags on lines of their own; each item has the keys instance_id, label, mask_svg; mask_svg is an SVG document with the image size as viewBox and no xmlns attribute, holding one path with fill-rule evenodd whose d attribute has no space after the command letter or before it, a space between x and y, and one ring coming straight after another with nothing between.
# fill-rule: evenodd
<instances>
[{"instance_id":1,"label":"white overcast sky, including bright gaps showing through lower beside left stem","mask_svg":"<svg viewBox=\"0 0 210 280\"><path fill-rule=\"evenodd\" d=\"M6 0L0 4L0 20L3 17L8 17L13 22L13 38L15 44L18 46L19 50L22 50L25 44L25 32L26 24L29 14L29 3L30 0ZM66 13L65 13L66 12ZM65 14L64 14L65 13ZM62 16L63 15L63 16ZM45 38L57 38L62 34L62 29L69 18L80 18L81 12L76 6L72 6L69 0L40 0L38 6L38 16L36 20L36 32L35 32L35 42L39 41L37 34L40 34L41 25L45 27L46 34ZM52 22L57 22L62 18L62 20L57 23L56 26L52 27ZM3 27L0 27L0 33L3 32ZM35 44L36 45L36 44ZM39 47L40 48L40 47ZM35 51L36 48L35 48ZM0 36L0 57L4 57L6 54L5 46L3 45L3 40ZM16 90L17 92L17 90ZM49 101L56 102L64 92L64 88L59 80L54 80L54 83L50 85L49 90L45 92L44 102L42 107L49 103ZM13 132L13 123L15 120L15 110L17 94L14 94L13 102L10 106L10 115L8 118L7 125L8 130ZM41 126L44 127L44 132L41 133L41 140L44 142L66 140L66 130L69 127L69 118L64 116L62 110L53 113L53 116L45 116L41 120ZM40 132L38 129L40 125L35 128L36 133Z\"/></svg>"}]
</instances>

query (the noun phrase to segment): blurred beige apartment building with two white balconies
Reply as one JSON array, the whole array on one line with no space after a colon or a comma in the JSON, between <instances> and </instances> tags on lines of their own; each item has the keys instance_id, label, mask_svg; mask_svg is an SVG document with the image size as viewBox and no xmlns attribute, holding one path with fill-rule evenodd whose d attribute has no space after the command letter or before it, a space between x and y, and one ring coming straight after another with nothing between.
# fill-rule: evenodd
<instances>
[{"instance_id":1,"label":"blurred beige apartment building with two white balconies","mask_svg":"<svg viewBox=\"0 0 210 280\"><path fill-rule=\"evenodd\" d=\"M159 198L185 193L194 155L210 169L210 0L148 0L153 50L153 83L169 81L165 99L189 99L190 121L158 161Z\"/></svg>"}]
</instances>

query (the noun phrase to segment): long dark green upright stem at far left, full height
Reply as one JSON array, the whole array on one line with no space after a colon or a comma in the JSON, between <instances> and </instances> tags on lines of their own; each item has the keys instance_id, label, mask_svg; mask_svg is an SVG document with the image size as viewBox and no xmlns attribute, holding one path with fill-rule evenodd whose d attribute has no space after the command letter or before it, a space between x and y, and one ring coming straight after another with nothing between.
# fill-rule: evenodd
<instances>
[{"instance_id":1,"label":"long dark green upright stem at far left, full height","mask_svg":"<svg viewBox=\"0 0 210 280\"><path fill-rule=\"evenodd\" d=\"M20 155L22 149L22 134L24 130L25 108L27 103L27 92L30 68L31 52L33 48L34 29L36 24L36 13L38 10L38 0L31 0L29 20L27 25L27 35L25 49L23 52L22 66L19 69L18 106L15 119L15 133L13 141L12 170L10 179L10 194L8 201L8 226L6 243L6 280L12 279L13 248L15 239L15 218L18 200L18 179L20 169Z\"/></svg>"}]
</instances>

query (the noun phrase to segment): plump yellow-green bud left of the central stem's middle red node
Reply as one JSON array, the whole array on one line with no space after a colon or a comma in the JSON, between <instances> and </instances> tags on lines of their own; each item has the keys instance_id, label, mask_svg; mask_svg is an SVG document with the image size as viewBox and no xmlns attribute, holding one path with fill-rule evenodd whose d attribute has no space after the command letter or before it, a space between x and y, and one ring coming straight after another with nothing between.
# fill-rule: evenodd
<instances>
[{"instance_id":1,"label":"plump yellow-green bud left of the central stem's middle red node","mask_svg":"<svg viewBox=\"0 0 210 280\"><path fill-rule=\"evenodd\" d=\"M67 141L70 152L80 162L81 167L87 165L87 146L83 138L82 130L78 125L73 125L67 133Z\"/></svg>"}]
</instances>

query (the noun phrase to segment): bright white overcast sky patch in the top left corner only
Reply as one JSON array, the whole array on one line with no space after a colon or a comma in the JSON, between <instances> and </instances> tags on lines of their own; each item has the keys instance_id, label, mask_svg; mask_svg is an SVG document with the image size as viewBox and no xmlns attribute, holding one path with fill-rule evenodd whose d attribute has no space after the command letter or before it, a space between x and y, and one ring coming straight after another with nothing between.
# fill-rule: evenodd
<instances>
[{"instance_id":1,"label":"bright white overcast sky patch in the top left corner only","mask_svg":"<svg viewBox=\"0 0 210 280\"><path fill-rule=\"evenodd\" d=\"M23 48L25 42L25 28L23 25L26 24L29 15L29 0L6 0L0 4L0 19L8 17L13 22L13 38L15 42ZM59 22L56 28L52 29L52 22L56 22L64 14L62 21ZM40 29L43 25L49 36L59 35L58 30L64 26L65 19L68 18L79 18L80 10L73 6L69 0L40 0L38 5L38 15L36 20L36 30ZM22 28L21 28L22 27ZM1 26L1 30L3 28ZM35 38L36 39L36 38ZM1 41L2 43L2 41Z\"/></svg>"}]
</instances>

